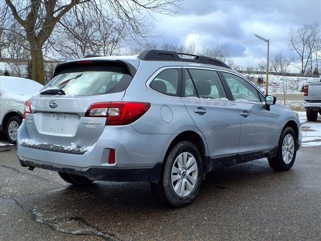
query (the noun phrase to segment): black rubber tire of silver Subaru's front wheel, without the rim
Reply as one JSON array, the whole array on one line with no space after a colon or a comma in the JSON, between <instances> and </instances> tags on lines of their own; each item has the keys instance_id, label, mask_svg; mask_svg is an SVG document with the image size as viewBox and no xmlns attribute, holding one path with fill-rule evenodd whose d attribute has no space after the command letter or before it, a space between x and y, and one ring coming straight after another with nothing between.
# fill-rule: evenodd
<instances>
[{"instance_id":1,"label":"black rubber tire of silver Subaru's front wheel, without the rim","mask_svg":"<svg viewBox=\"0 0 321 241\"><path fill-rule=\"evenodd\" d=\"M292 156L291 161L289 163L286 163L283 159L282 147L283 147L284 138L288 135L291 135L293 138L294 151L293 151L293 156ZM278 143L277 155L275 157L268 158L271 168L274 171L287 171L287 170L289 170L294 164L295 157L296 157L296 149L297 149L296 135L295 135L292 128L287 127L281 133L281 137L280 137L280 140Z\"/></svg>"}]
</instances>

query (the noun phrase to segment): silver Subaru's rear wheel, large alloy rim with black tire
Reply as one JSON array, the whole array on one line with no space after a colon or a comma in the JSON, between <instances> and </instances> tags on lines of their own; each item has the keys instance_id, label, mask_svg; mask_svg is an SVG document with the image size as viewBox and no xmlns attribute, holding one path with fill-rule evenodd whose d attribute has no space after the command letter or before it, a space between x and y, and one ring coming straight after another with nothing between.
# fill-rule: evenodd
<instances>
[{"instance_id":1,"label":"silver Subaru's rear wheel, large alloy rim with black tire","mask_svg":"<svg viewBox=\"0 0 321 241\"><path fill-rule=\"evenodd\" d=\"M196 146L180 142L172 148L165 160L161 178L151 183L158 200L175 207L184 207L192 202L199 192L203 165Z\"/></svg>"}]
</instances>

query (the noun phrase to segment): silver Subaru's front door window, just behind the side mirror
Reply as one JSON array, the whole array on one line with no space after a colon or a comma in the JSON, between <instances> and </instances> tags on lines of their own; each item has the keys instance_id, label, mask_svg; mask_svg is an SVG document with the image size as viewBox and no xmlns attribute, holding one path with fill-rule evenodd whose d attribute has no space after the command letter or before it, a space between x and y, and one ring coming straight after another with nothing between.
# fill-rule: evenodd
<instances>
[{"instance_id":1,"label":"silver Subaru's front door window, just behind the side mirror","mask_svg":"<svg viewBox=\"0 0 321 241\"><path fill-rule=\"evenodd\" d=\"M251 84L244 79L234 75L222 72L229 85L234 100L241 102L261 102L259 94Z\"/></svg>"}]
</instances>

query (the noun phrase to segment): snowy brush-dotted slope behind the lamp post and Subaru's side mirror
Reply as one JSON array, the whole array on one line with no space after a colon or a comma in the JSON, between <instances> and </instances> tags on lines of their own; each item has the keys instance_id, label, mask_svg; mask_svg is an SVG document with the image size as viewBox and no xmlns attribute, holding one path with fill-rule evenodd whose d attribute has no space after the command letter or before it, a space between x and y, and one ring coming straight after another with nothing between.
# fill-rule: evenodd
<instances>
[{"instance_id":1,"label":"snowy brush-dotted slope behind the lamp post and Subaru's side mirror","mask_svg":"<svg viewBox=\"0 0 321 241\"><path fill-rule=\"evenodd\" d=\"M263 92L265 92L265 79L266 75L262 74L245 74L245 76L251 80L256 86L258 86ZM257 81L258 78L262 78L263 83ZM319 78L312 77L292 77L292 76L280 76L269 74L269 93L271 94L300 94L302 86L306 82L316 82Z\"/></svg>"}]
</instances>

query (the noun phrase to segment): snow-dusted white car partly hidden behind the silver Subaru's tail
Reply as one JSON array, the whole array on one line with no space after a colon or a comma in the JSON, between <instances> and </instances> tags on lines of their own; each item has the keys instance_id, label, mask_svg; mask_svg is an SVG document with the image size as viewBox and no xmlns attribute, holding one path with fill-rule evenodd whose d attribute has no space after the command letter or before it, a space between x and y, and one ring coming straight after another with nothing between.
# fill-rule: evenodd
<instances>
[{"instance_id":1,"label":"snow-dusted white car partly hidden behind the silver Subaru's tail","mask_svg":"<svg viewBox=\"0 0 321 241\"><path fill-rule=\"evenodd\" d=\"M15 144L21 125L24 104L44 86L34 80L12 76L0 76L0 130Z\"/></svg>"}]
</instances>

